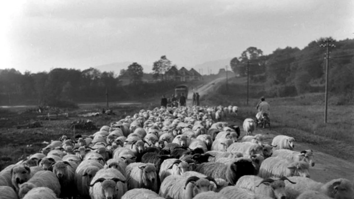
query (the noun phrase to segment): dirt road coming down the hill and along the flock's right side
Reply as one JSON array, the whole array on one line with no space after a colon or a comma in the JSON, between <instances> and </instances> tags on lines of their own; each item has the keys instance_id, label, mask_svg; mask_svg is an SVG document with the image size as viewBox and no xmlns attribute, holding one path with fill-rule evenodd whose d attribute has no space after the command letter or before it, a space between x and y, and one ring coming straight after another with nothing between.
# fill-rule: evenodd
<instances>
[{"instance_id":1,"label":"dirt road coming down the hill and along the flock's right side","mask_svg":"<svg viewBox=\"0 0 354 199\"><path fill-rule=\"evenodd\" d=\"M213 86L215 86L213 85L213 83L218 83L225 79L226 78L216 79L200 87L196 92L199 92L201 96L206 95L207 93L213 91ZM187 104L188 106L192 105L192 101L187 102ZM215 105L217 106L218 104ZM242 109L242 107L239 108ZM244 136L245 134L242 129L242 121L235 120L232 122L238 124L241 127L240 137ZM256 135L258 133L261 133L266 136L265 143L272 143L273 137L275 137L276 135L280 135L280 133L276 131L276 128L275 130L272 129L272 131L269 131L269 129L257 128L253 132L253 135ZM312 149L312 148L314 148L312 144L308 144L308 143L297 142L295 144L296 151ZM314 155L315 155L315 166L310 167L310 175L313 180L325 183L336 178L346 178L348 180L354 179L353 163L340 158L333 157L332 155L328 155L320 151L314 150Z\"/></svg>"}]
</instances>

